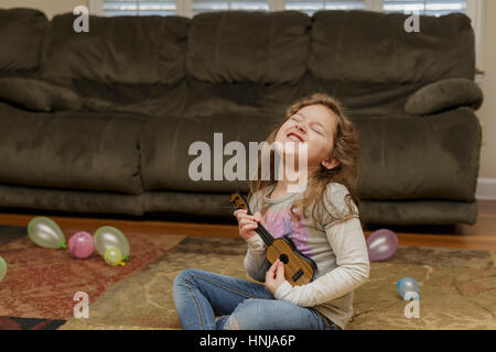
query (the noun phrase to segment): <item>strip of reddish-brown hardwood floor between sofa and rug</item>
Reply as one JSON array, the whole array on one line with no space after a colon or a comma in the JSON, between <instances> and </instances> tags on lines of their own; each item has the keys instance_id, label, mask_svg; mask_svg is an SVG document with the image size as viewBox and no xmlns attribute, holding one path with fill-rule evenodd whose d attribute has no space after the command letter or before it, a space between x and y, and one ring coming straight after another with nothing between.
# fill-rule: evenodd
<instances>
[{"instance_id":1,"label":"strip of reddish-brown hardwood floor between sofa and rug","mask_svg":"<svg viewBox=\"0 0 496 352\"><path fill-rule=\"evenodd\" d=\"M129 220L125 218L83 218L67 217L50 213L0 213L0 226L26 227L35 216L47 216L58 226L67 230L85 230L93 232L103 226L114 226L125 233L157 233L157 234L192 234L218 238L235 238L238 235L236 223L208 223L186 221L160 221L160 220ZM368 237L380 226L366 227L365 235ZM477 222L474 226L414 226L390 227L399 239L400 245L440 246L453 249L473 249L496 251L496 201L478 201Z\"/></svg>"}]
</instances>

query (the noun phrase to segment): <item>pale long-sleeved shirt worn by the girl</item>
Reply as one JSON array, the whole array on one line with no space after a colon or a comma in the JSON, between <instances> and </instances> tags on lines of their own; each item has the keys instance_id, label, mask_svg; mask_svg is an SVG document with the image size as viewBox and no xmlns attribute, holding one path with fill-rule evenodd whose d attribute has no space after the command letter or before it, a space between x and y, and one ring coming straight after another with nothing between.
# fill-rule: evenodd
<instances>
[{"instance_id":1,"label":"pale long-sleeved shirt worn by the girl","mask_svg":"<svg viewBox=\"0 0 496 352\"><path fill-rule=\"evenodd\" d=\"M347 188L338 183L327 185L332 207L325 201L331 216L319 211L317 221L311 217L296 221L290 215L291 205L302 197L301 193L288 194L280 199L263 197L270 206L266 216L266 229L274 237L287 237L298 250L310 256L317 265L314 279L303 286L291 286L284 282L274 293L277 299L285 299L301 307L313 307L334 323L345 329L353 316L353 292L363 285L369 275L369 260L364 232L358 218L358 209L352 201L353 212L345 204ZM258 195L250 200L252 212L260 211ZM325 198L324 198L325 199ZM351 215L347 220L337 220ZM259 235L248 241L245 256L247 273L263 282L270 264L266 258L267 245Z\"/></svg>"}]
</instances>

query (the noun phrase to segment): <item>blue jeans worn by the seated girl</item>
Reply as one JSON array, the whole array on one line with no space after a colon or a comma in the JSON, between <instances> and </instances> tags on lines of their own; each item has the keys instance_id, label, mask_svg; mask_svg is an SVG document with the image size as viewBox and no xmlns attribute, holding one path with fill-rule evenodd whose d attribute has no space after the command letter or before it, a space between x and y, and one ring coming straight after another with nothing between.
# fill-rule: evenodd
<instances>
[{"instance_id":1,"label":"blue jeans worn by the seated girl","mask_svg":"<svg viewBox=\"0 0 496 352\"><path fill-rule=\"evenodd\" d=\"M339 329L312 308L274 299L261 284L194 268L175 277L173 298L186 330Z\"/></svg>"}]
</instances>

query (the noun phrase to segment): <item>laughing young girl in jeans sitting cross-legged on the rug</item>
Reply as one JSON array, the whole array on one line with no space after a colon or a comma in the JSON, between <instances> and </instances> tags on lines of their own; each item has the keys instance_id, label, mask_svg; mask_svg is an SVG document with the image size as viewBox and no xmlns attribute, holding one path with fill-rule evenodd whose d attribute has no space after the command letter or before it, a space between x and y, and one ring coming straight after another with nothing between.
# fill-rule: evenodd
<instances>
[{"instance_id":1,"label":"laughing young girl in jeans sitting cross-legged on the rug","mask_svg":"<svg viewBox=\"0 0 496 352\"><path fill-rule=\"evenodd\" d=\"M337 100L314 94L289 107L267 139L269 145L278 142L305 143L306 168L295 172L308 180L305 187L288 191L298 179L281 177L288 172L283 161L296 148L279 148L279 172L271 166L270 179L250 182L254 216L234 212L248 245L245 268L265 285L200 270L181 272L173 297L184 329L341 330L352 317L354 289L369 274L358 216L357 131ZM311 283L291 286L283 264L270 265L267 245L255 231L258 222L274 238L291 239L315 262Z\"/></svg>"}]
</instances>

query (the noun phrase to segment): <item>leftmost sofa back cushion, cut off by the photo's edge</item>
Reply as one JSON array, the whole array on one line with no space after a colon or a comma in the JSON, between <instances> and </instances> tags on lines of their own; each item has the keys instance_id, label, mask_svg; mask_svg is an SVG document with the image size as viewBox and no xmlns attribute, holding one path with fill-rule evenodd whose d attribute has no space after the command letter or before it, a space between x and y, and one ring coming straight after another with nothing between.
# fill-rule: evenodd
<instances>
[{"instance_id":1,"label":"leftmost sofa back cushion, cut off by the photo's edge","mask_svg":"<svg viewBox=\"0 0 496 352\"><path fill-rule=\"evenodd\" d=\"M45 14L33 9L0 9L0 72L34 69L40 64Z\"/></svg>"}]
</instances>

